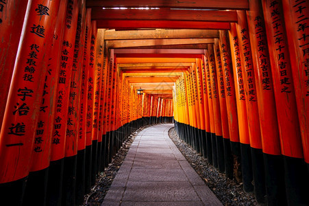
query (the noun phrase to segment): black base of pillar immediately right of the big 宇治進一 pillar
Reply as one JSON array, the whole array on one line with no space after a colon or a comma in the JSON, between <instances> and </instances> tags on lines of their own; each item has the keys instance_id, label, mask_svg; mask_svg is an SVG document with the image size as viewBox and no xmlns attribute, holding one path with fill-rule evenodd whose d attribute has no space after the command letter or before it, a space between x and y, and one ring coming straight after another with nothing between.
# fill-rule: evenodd
<instances>
[{"instance_id":1,"label":"black base of pillar immediately right of the big \u5b87\u6cbb\u9032\u4e00 pillar","mask_svg":"<svg viewBox=\"0 0 309 206\"><path fill-rule=\"evenodd\" d=\"M29 173L23 205L46 205L48 172L45 168Z\"/></svg>"}]
</instances>

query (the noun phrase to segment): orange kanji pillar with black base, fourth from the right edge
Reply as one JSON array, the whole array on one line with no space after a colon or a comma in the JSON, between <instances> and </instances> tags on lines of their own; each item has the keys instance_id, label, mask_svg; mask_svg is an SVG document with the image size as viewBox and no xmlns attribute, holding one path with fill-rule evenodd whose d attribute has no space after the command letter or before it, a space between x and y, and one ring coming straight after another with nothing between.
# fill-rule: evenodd
<instances>
[{"instance_id":1,"label":"orange kanji pillar with black base, fourth from the right edge","mask_svg":"<svg viewBox=\"0 0 309 206\"><path fill-rule=\"evenodd\" d=\"M246 95L247 119L249 128L249 138L251 148L247 152L251 153L251 161L254 177L254 193L256 199L264 202L265 195L264 183L264 161L262 154L262 138L260 133L260 120L258 116L258 102L256 96L256 80L254 75L254 65L251 54L251 45L249 40L249 29L245 11L237 11L238 23L236 30L238 39L241 38L239 45L240 60L243 67L244 85ZM249 151L251 150L251 152ZM252 185L253 187L253 185ZM249 192L249 191L248 191Z\"/></svg>"}]
</instances>

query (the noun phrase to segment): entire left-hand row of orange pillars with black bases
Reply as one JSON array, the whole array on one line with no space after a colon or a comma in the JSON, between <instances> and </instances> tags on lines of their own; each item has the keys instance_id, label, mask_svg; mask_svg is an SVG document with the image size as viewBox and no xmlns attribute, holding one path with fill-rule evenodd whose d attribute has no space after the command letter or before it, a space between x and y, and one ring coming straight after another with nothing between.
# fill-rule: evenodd
<instances>
[{"instance_id":1,"label":"entire left-hand row of orange pillars with black bases","mask_svg":"<svg viewBox=\"0 0 309 206\"><path fill-rule=\"evenodd\" d=\"M172 100L123 79L85 0L0 4L10 11L0 21L1 203L82 205L130 134L173 121Z\"/></svg>"}]
</instances>

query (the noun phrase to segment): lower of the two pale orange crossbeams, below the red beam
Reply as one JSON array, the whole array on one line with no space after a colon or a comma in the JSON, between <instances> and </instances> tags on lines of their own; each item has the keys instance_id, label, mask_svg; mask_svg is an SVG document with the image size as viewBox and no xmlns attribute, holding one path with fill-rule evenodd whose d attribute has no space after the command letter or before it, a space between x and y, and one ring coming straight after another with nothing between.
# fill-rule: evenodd
<instances>
[{"instance_id":1,"label":"lower of the two pale orange crossbeams, below the red beam","mask_svg":"<svg viewBox=\"0 0 309 206\"><path fill-rule=\"evenodd\" d=\"M188 39L142 39L142 40L111 40L106 41L108 48L141 47L156 45L194 45L211 44L214 38L188 38Z\"/></svg>"}]
</instances>

